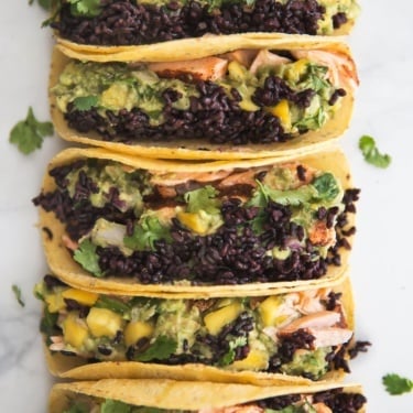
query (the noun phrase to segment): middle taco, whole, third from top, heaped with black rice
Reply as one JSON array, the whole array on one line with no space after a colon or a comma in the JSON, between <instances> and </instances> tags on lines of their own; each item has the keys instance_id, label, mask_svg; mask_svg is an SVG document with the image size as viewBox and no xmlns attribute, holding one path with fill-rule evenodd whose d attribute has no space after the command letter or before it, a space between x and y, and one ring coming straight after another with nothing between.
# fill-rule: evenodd
<instances>
[{"instance_id":1,"label":"middle taco, whole, third from top, heaped with black rice","mask_svg":"<svg viewBox=\"0 0 413 413\"><path fill-rule=\"evenodd\" d=\"M178 163L69 149L33 202L48 265L70 285L211 296L343 276L358 194L338 150Z\"/></svg>"}]
</instances>

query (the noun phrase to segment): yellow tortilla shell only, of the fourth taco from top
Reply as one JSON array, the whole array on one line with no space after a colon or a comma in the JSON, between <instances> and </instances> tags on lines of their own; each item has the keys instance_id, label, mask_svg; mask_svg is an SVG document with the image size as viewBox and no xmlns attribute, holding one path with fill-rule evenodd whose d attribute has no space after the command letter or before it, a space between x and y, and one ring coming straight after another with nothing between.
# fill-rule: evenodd
<instances>
[{"instance_id":1,"label":"yellow tortilla shell only, of the fourth taco from top","mask_svg":"<svg viewBox=\"0 0 413 413\"><path fill-rule=\"evenodd\" d=\"M355 330L355 301L350 278L348 273L339 282L330 282L336 293L341 293L340 303L347 327ZM312 286L305 290L318 287ZM261 295L278 295L281 292L262 292ZM113 295L113 293L111 293ZM247 294L240 293L246 296ZM169 294L156 295L163 298L175 298ZM191 300L191 296L187 296ZM44 337L45 339L45 337ZM311 379L283 373L269 373L251 370L229 370L203 363L187 363L167 366L162 363L140 361L97 361L87 363L87 360L77 356L64 356L59 352L51 352L44 345L48 371L62 379L72 380L100 380L100 379L171 379L180 381L211 381L220 383L248 383L254 385L308 385L315 383ZM327 372L317 383L341 381L345 378L343 369Z\"/></svg>"}]
</instances>

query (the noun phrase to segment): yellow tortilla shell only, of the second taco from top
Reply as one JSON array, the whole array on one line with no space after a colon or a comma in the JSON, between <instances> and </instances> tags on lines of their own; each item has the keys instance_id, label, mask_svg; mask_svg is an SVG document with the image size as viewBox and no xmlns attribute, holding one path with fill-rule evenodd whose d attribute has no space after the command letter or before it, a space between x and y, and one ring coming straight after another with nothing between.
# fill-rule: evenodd
<instances>
[{"instance_id":1,"label":"yellow tortilla shell only, of the second taco from top","mask_svg":"<svg viewBox=\"0 0 413 413\"><path fill-rule=\"evenodd\" d=\"M174 42L176 42L174 47L166 42L122 50L111 54L78 53L61 43L53 51L50 88L57 83L59 74L70 58L97 62L172 62L217 55L238 48L269 48L275 52L280 50L334 51L348 57L351 65L350 72L355 75L356 83L358 81L356 67L348 46L338 40L329 37L314 39L314 36L250 34L224 37L208 36L208 39L188 39ZM347 88L346 91L347 95L341 98L341 106L336 116L329 119L320 130L303 133L289 142L247 145L211 144L199 139L181 139L173 142L155 143L146 141L133 144L104 141L97 132L83 134L70 129L64 119L64 115L57 108L53 94L50 94L50 105L52 120L57 133L70 142L156 159L239 160L289 156L297 152L308 153L314 150L322 150L332 141L338 140L348 128L354 107L354 90L352 88Z\"/></svg>"}]
</instances>

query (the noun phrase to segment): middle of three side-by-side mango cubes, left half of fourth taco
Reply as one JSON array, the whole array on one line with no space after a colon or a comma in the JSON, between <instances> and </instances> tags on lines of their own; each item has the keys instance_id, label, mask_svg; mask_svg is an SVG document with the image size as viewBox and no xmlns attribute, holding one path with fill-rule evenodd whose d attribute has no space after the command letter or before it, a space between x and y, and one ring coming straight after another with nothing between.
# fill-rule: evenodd
<instances>
[{"instance_id":1,"label":"middle of three side-by-side mango cubes, left half of fourth taco","mask_svg":"<svg viewBox=\"0 0 413 413\"><path fill-rule=\"evenodd\" d=\"M122 329L122 317L107 308L90 308L86 317L90 333L95 337L115 337L117 332Z\"/></svg>"}]
</instances>

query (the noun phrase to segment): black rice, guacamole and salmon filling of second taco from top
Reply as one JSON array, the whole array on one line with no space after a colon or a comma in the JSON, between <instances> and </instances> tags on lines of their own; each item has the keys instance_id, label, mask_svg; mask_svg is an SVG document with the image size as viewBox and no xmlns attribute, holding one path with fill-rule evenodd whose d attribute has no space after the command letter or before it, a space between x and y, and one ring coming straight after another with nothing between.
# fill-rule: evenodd
<instances>
[{"instance_id":1,"label":"black rice, guacamole and salmon filling of second taco from top","mask_svg":"<svg viewBox=\"0 0 413 413\"><path fill-rule=\"evenodd\" d=\"M239 50L186 62L69 62L51 89L69 128L111 142L285 142L339 116L357 85L326 51Z\"/></svg>"}]
</instances>

